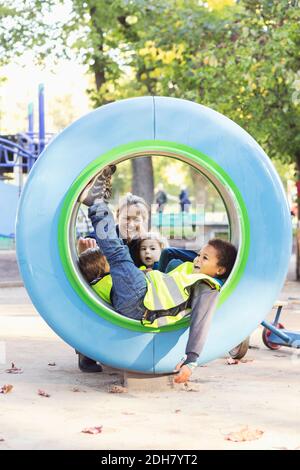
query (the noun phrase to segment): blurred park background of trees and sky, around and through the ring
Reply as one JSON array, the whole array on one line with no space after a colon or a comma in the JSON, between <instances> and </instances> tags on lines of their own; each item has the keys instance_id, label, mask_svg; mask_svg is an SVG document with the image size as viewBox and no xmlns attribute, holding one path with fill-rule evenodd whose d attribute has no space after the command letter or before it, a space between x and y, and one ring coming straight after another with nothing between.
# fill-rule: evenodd
<instances>
[{"instance_id":1,"label":"blurred park background of trees and sky, around and through the ring","mask_svg":"<svg viewBox=\"0 0 300 470\"><path fill-rule=\"evenodd\" d=\"M299 20L299 2L292 0L3 0L1 253L14 255L18 198L54 135L102 104L164 95L225 114L272 158L291 209L299 279ZM228 237L220 195L180 161L123 162L113 191L115 201L130 191L153 204L152 223L168 232L172 245L183 222L184 246L192 246L200 230ZM184 211L182 191L190 201ZM160 211L162 193L167 201ZM86 231L84 212L78 230Z\"/></svg>"}]
</instances>

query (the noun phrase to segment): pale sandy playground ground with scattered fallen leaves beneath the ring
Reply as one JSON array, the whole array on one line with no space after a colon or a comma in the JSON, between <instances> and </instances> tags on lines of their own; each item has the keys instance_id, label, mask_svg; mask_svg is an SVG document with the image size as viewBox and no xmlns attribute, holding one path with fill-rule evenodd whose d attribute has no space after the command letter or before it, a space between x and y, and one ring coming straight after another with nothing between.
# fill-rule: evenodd
<instances>
[{"instance_id":1,"label":"pale sandy playground ground with scattered fallen leaves beneath the ring","mask_svg":"<svg viewBox=\"0 0 300 470\"><path fill-rule=\"evenodd\" d=\"M285 326L300 331L299 283L288 280L280 298L289 299ZM266 349L261 327L251 336L249 362L221 358L200 367L189 389L123 394L108 392L120 383L118 372L78 370L74 351L40 318L24 288L0 289L0 331L0 388L14 387L0 395L0 450L300 447L300 350ZM23 373L5 372L11 362ZM81 433L99 425L101 434ZM246 426L262 437L225 440Z\"/></svg>"}]
</instances>

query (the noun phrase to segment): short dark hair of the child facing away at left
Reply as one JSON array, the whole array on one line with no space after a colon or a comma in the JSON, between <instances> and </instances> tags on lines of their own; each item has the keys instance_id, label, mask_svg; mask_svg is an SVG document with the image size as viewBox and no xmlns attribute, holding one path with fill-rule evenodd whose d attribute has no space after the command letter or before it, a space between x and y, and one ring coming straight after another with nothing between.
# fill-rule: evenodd
<instances>
[{"instance_id":1,"label":"short dark hair of the child facing away at left","mask_svg":"<svg viewBox=\"0 0 300 470\"><path fill-rule=\"evenodd\" d=\"M88 248L79 255L78 265L87 282L93 282L105 274L106 258L98 247Z\"/></svg>"}]
</instances>

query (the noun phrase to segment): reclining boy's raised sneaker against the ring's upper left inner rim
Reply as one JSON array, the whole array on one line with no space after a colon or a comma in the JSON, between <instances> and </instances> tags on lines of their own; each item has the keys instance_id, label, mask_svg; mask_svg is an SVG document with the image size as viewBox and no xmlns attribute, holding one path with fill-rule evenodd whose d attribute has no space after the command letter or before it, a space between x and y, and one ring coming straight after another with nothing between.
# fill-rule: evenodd
<instances>
[{"instance_id":1,"label":"reclining boy's raised sneaker against the ring's upper left inner rim","mask_svg":"<svg viewBox=\"0 0 300 470\"><path fill-rule=\"evenodd\" d=\"M111 177L115 173L116 165L105 167L88 186L82 191L78 200L86 206L92 206L96 199L107 202L111 197Z\"/></svg>"}]
</instances>

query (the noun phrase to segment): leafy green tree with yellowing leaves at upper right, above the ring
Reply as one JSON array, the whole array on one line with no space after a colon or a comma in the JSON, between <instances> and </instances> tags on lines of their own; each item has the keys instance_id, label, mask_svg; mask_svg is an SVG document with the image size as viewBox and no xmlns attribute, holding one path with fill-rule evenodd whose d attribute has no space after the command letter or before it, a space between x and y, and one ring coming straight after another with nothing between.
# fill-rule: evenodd
<instances>
[{"instance_id":1,"label":"leafy green tree with yellowing leaves at upper right, above the ring","mask_svg":"<svg viewBox=\"0 0 300 470\"><path fill-rule=\"evenodd\" d=\"M271 157L295 162L300 174L298 2L244 0L206 12L185 2L183 8L184 14L171 13L172 47L170 32L159 24L157 35L151 31L157 39L138 51L150 75L156 64L156 93L227 115Z\"/></svg>"}]
</instances>

